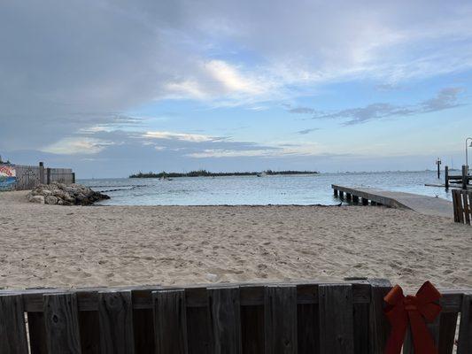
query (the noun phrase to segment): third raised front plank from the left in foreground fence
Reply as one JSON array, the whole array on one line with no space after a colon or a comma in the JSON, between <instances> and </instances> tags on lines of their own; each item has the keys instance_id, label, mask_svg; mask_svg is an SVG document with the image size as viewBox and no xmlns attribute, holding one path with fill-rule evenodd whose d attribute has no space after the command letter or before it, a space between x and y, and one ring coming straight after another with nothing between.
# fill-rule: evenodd
<instances>
[{"instance_id":1,"label":"third raised front plank from the left in foreground fence","mask_svg":"<svg viewBox=\"0 0 472 354\"><path fill-rule=\"evenodd\" d=\"M133 354L133 304L130 291L98 294L100 348L103 354Z\"/></svg>"}]
</instances>

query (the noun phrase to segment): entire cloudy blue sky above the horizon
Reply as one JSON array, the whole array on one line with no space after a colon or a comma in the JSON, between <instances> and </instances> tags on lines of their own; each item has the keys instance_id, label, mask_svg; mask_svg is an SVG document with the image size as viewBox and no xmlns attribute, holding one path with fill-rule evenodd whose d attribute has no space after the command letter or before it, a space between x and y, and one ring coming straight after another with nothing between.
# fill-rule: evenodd
<instances>
[{"instance_id":1,"label":"entire cloudy blue sky above the horizon","mask_svg":"<svg viewBox=\"0 0 472 354\"><path fill-rule=\"evenodd\" d=\"M471 18L454 0L0 0L0 155L79 178L460 167Z\"/></svg>"}]
</instances>

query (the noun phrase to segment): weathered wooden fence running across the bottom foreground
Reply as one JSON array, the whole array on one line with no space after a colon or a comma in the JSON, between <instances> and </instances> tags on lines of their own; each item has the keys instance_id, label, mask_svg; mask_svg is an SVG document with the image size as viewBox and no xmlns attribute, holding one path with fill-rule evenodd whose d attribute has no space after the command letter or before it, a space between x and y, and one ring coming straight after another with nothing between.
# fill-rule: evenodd
<instances>
[{"instance_id":1,"label":"weathered wooden fence running across the bottom foreground","mask_svg":"<svg viewBox=\"0 0 472 354\"><path fill-rule=\"evenodd\" d=\"M383 353L388 281L0 292L0 353ZM472 290L469 290L472 291ZM472 353L472 292L442 291L439 353ZM26 314L26 316L25 316ZM407 341L404 353L412 353Z\"/></svg>"}]
</instances>

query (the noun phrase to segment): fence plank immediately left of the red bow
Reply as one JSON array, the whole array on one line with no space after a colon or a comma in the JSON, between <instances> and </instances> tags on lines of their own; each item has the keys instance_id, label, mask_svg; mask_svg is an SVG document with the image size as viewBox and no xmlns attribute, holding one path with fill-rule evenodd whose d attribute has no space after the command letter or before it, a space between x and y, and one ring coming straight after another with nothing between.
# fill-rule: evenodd
<instances>
[{"instance_id":1,"label":"fence plank immediately left of the red bow","mask_svg":"<svg viewBox=\"0 0 472 354\"><path fill-rule=\"evenodd\" d=\"M385 344L390 333L389 321L385 319L383 308L385 302L383 297L391 289L390 281L384 279L369 279L371 286L371 296L369 304L369 353L370 354L383 354L385 350Z\"/></svg>"}]
</instances>

